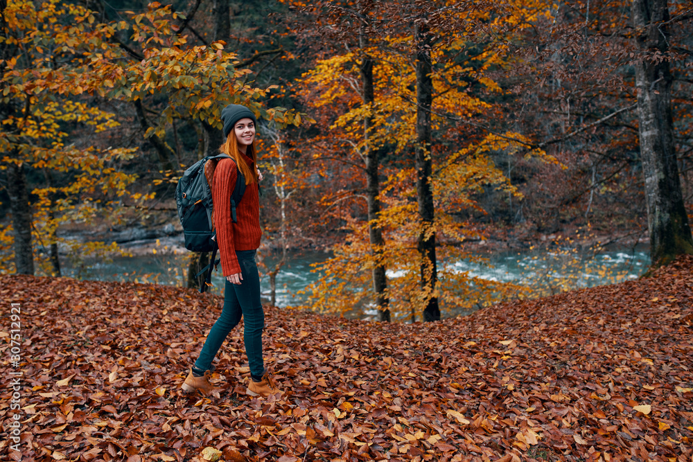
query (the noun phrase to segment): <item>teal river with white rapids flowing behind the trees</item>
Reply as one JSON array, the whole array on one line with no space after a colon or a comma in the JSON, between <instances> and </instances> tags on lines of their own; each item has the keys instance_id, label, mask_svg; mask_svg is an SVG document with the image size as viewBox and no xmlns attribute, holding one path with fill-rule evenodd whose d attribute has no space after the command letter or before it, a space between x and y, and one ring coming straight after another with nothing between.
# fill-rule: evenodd
<instances>
[{"instance_id":1,"label":"teal river with white rapids flowing behind the trees","mask_svg":"<svg viewBox=\"0 0 693 462\"><path fill-rule=\"evenodd\" d=\"M85 262L75 267L71 262L63 264L64 276L96 281L132 281L137 283L159 283L182 285L186 271L187 254L173 254L164 246L156 253L132 257L116 257L111 261L98 260ZM288 263L277 276L277 305L288 306L299 303L296 293L317 279L311 272L314 263L327 258L322 252L292 252ZM274 265L276 257L261 258L267 265ZM638 278L649 267L649 254L646 246L631 249L613 249L592 256L585 251L581 254L574 249L546 251L505 252L495 254L485 263L468 260L448 263L454 271L468 272L471 276L490 281L541 285L549 292L558 292L553 285L568 284L570 288L593 287L617 281ZM262 266L262 265L261 265ZM264 272L261 267L261 272ZM389 277L397 276L388 274ZM212 292L221 293L224 280L220 269L213 273ZM555 289L555 290L554 290ZM261 279L263 296L270 297L270 281L267 276Z\"/></svg>"}]
</instances>

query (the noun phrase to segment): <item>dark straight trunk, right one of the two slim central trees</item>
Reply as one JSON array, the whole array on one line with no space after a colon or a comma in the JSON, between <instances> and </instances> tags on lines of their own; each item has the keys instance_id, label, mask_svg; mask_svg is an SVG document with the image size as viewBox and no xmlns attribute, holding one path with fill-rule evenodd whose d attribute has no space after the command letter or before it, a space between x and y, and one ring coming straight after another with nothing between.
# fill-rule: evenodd
<instances>
[{"instance_id":1,"label":"dark straight trunk, right one of the two slim central trees","mask_svg":"<svg viewBox=\"0 0 693 462\"><path fill-rule=\"evenodd\" d=\"M431 158L431 105L433 100L432 64L430 58L432 39L426 19L416 22L416 197L419 202L421 233L418 249L421 256L421 290L426 296L423 308L424 321L440 319L436 283L438 273L435 256L435 217L433 190L430 183Z\"/></svg>"}]
</instances>

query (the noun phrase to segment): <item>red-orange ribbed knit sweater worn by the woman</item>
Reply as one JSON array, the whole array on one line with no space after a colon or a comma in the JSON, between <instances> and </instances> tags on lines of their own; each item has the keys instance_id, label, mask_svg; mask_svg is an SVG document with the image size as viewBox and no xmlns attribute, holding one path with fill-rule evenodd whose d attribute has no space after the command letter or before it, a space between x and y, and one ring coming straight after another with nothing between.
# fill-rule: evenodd
<instances>
[{"instance_id":1,"label":"red-orange ribbed knit sweater worn by the woman","mask_svg":"<svg viewBox=\"0 0 693 462\"><path fill-rule=\"evenodd\" d=\"M252 171L255 168L252 159L241 155ZM214 227L225 277L240 273L236 250L257 249L262 236L260 199L255 181L245 186L243 199L236 204L236 223L231 220L231 194L236 187L236 175L236 163L231 159L220 159L212 182Z\"/></svg>"}]
</instances>

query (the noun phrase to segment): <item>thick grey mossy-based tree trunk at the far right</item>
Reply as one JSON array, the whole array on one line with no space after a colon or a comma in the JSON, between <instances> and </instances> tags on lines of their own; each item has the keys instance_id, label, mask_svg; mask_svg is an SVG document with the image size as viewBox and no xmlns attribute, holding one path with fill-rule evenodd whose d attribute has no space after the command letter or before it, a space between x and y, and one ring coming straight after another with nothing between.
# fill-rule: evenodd
<instances>
[{"instance_id":1,"label":"thick grey mossy-based tree trunk at the far right","mask_svg":"<svg viewBox=\"0 0 693 462\"><path fill-rule=\"evenodd\" d=\"M635 64L640 118L640 158L647 200L647 225L652 268L666 265L681 254L693 254L693 238L674 150L672 73L660 59L669 51L667 0L633 0ZM659 56L659 57L657 57Z\"/></svg>"}]
</instances>

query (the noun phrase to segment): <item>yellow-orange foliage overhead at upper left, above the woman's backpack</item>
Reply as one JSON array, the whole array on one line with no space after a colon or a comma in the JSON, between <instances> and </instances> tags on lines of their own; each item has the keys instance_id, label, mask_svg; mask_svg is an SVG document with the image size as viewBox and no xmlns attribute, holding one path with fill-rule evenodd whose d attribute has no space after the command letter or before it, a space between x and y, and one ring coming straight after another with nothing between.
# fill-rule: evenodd
<instances>
[{"instance_id":1,"label":"yellow-orange foliage overhead at upper left, above the woman's backpack","mask_svg":"<svg viewBox=\"0 0 693 462\"><path fill-rule=\"evenodd\" d=\"M91 126L96 134L118 125L114 114L92 107L84 94L125 102L166 94L168 106L147 136L163 137L174 118L198 118L220 128L225 103L244 103L279 126L310 122L293 110L263 108L258 99L270 89L247 84L250 71L236 69L237 55L224 51L222 43L188 46L174 21L179 15L169 6L150 3L146 12L123 13L128 21L109 23L83 6L59 0L9 1L3 14L6 43L16 53L0 75L0 103L23 110L1 121L0 168L26 164L72 179L68 186L33 191L40 197L35 238L42 242L55 242L60 224L94 220L98 213L117 217L119 200L130 195L128 187L136 179L118 167L136 150L69 142L64 127L70 124ZM138 44L130 50L116 39L128 31ZM131 200L142 204L152 196L133 195Z\"/></svg>"}]
</instances>

